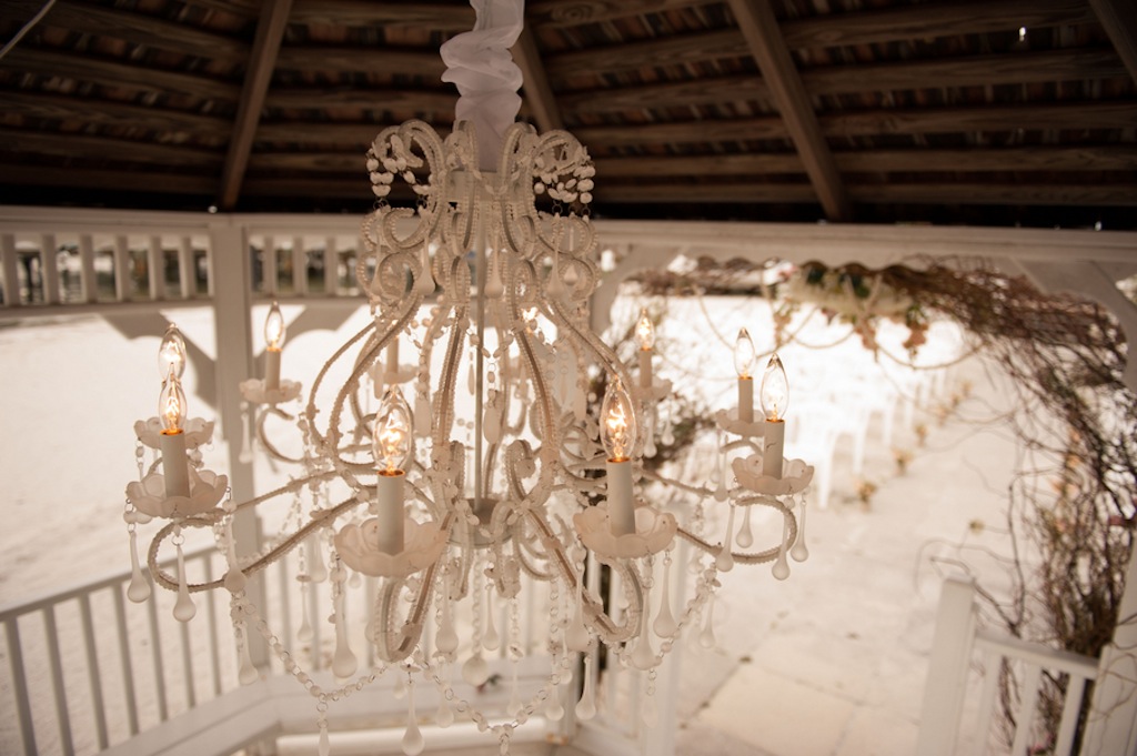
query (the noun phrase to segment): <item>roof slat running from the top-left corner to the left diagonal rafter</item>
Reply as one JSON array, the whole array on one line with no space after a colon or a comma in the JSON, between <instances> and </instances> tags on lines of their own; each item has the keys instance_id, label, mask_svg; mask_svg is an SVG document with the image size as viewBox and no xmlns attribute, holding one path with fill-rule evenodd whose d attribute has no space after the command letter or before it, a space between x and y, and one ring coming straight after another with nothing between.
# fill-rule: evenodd
<instances>
[{"instance_id":1,"label":"roof slat running from the top-left corner to the left diagonal rafter","mask_svg":"<svg viewBox=\"0 0 1137 756\"><path fill-rule=\"evenodd\" d=\"M41 0L6 0L5 11L13 16L34 15ZM235 63L249 55L249 45L236 38L216 34L188 24L177 24L141 10L117 10L60 0L40 22L42 26L63 28L77 34L109 36L155 50L172 50L211 60Z\"/></svg>"}]
</instances>

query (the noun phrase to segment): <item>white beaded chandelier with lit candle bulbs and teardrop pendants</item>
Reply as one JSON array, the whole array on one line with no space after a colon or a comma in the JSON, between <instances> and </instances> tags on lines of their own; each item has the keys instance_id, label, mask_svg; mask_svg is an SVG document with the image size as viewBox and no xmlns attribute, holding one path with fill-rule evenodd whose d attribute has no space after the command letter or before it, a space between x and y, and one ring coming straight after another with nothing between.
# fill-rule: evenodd
<instances>
[{"instance_id":1,"label":"white beaded chandelier with lit candle bulbs and teardrop pendants","mask_svg":"<svg viewBox=\"0 0 1137 756\"><path fill-rule=\"evenodd\" d=\"M595 169L584 148L565 132L539 136L528 125L500 123L503 115L512 122L516 114L516 106L509 113L501 102L516 98L520 72L514 75L508 66L492 59L485 64L484 58L488 45L489 55L508 59L520 32L521 2L473 5L475 31L443 45L447 76L463 94L454 132L443 140L426 124L408 122L380 133L367 153L380 201L364 222L367 249L356 275L374 318L315 379L298 422L304 443L298 474L281 489L234 502L226 496L226 477L202 467L197 450L210 439L213 423L186 419L181 388L185 346L174 326L159 349L158 416L135 424L140 480L126 488L125 515L134 573L130 598L146 600L150 592L136 556L136 527L152 517L168 520L153 537L148 564L158 584L177 591L175 616L192 618L191 593L227 590L241 681L257 679L249 635L259 633L316 699L324 755L327 704L338 691L315 684L302 654L274 634L246 590L248 576L292 549L308 550L309 564L312 550L318 550L332 565L326 579L334 607L332 671L338 681L347 681L343 690L358 690L384 672L418 672L438 686L443 707L453 704L479 729L491 730L504 751L509 734L530 716L563 715L562 687L572 679L579 654L603 643L609 665L615 659L650 674L682 628L700 616L719 572L735 563L773 562L773 574L785 579L787 554L807 556L795 507L804 527L805 501L798 495L813 468L782 458L788 383L777 355L761 381L763 416L755 419L755 350L745 330L735 350L738 408L716 418L721 437L735 437L720 449L722 459L736 452L733 484L721 475L712 490L644 468L645 447L654 447L646 439L655 430L656 404L671 392L670 382L652 372L653 323L644 314L637 324L634 373L590 330L589 301L599 283L597 239L587 215ZM468 47L475 52L465 51ZM464 64L464 57L485 65ZM479 75L467 76L470 69L506 73L485 83ZM480 105L487 107L480 111ZM388 205L396 181L415 192L417 207ZM538 210L538 200L549 209ZM260 446L277 459L294 462L277 451L281 445L264 423L301 392L298 383L281 379L284 337L284 319L274 304L265 327L265 377L246 381L241 391L262 408L256 424ZM400 341L414 347L415 364L400 364ZM342 385L325 385L333 366L342 365L349 373ZM607 387L599 417L589 409L594 376ZM376 413L364 409L368 392L381 398ZM465 401L472 402L472 412L462 419L459 396L465 393L472 394ZM157 452L149 467L144 447ZM729 507L725 533L721 539L703 533L702 518L690 523L684 517L681 525L677 513L645 501L637 485L640 493L649 485L681 490ZM235 513L305 489L318 489L327 502L314 506L306 520L259 553L239 558ZM781 540L763 551L736 553L736 538L744 549L753 538L748 527L745 537L733 534L735 513L755 505L783 516ZM185 527L214 529L229 564L222 580L186 580ZM703 558L692 598L673 608L670 581L683 579L682 573L670 574L679 539ZM173 575L158 566L167 540L177 555ZM586 588L589 554L619 574L626 603L621 612ZM663 555L662 580L656 580L657 555ZM376 579L365 638L380 661L355 680L358 663L341 604L352 573ZM514 674L512 700L504 717L492 715L495 723L451 684L448 670L457 665L466 683L484 683L489 666L483 651L499 647L508 649L506 658L516 670L523 651L509 637L516 634L516 604L525 581L547 587L548 680L522 700ZM512 626L499 633L485 601L509 606ZM458 632L465 628L456 621L464 604L473 616L466 643ZM432 613L437 631L426 638ZM588 681L590 657L584 659ZM579 718L595 714L594 697L586 682L576 701ZM424 747L413 699L402 746L412 756Z\"/></svg>"}]
</instances>

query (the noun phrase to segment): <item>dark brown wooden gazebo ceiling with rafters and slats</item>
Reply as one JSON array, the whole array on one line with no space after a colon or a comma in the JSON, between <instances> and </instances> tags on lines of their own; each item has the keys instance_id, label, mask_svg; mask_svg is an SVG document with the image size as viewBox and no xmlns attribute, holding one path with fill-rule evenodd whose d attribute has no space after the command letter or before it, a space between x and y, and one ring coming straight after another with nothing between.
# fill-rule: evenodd
<instances>
[{"instance_id":1,"label":"dark brown wooden gazebo ceiling with rafters and slats","mask_svg":"<svg viewBox=\"0 0 1137 756\"><path fill-rule=\"evenodd\" d=\"M0 201L362 213L382 127L450 127L473 18L58 0L0 59ZM1131 0L531 0L514 57L596 215L1137 227Z\"/></svg>"}]
</instances>

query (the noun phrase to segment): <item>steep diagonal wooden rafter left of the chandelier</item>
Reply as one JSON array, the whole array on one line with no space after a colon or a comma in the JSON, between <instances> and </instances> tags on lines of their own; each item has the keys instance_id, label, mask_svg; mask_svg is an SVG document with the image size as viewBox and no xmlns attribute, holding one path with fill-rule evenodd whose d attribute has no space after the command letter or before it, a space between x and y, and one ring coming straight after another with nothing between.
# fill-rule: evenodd
<instances>
[{"instance_id":1,"label":"steep diagonal wooden rafter left of the chandelier","mask_svg":"<svg viewBox=\"0 0 1137 756\"><path fill-rule=\"evenodd\" d=\"M232 210L241 194L241 181L249 164L252 151L252 140L260 123L260 113L265 106L265 94L272 82L273 69L276 67L276 55L284 39L292 0L266 0L257 24L257 36L252 41L252 53L244 72L244 86L233 122L233 138L230 140L229 155L222 168L221 186L217 192L217 203L223 210Z\"/></svg>"}]
</instances>

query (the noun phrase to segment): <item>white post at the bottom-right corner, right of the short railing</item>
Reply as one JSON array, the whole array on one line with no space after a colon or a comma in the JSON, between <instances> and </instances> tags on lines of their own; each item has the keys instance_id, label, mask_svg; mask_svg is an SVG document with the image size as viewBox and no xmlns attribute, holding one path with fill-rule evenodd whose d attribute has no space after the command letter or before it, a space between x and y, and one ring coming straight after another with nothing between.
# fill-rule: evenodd
<instances>
[{"instance_id":1,"label":"white post at the bottom-right corner, right of the short railing","mask_svg":"<svg viewBox=\"0 0 1137 756\"><path fill-rule=\"evenodd\" d=\"M1118 609L1113 641L1102 651L1084 756L1137 754L1137 556L1129 554L1126 592Z\"/></svg>"}]
</instances>

